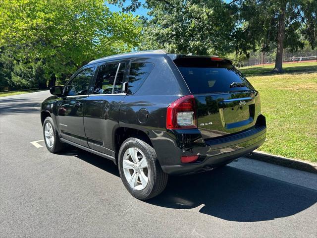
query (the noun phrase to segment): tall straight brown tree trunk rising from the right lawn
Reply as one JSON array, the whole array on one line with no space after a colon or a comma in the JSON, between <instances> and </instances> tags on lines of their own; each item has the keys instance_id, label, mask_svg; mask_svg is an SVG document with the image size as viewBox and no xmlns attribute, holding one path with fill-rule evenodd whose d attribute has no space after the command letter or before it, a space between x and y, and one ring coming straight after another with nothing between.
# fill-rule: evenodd
<instances>
[{"instance_id":1,"label":"tall straight brown tree trunk rising from the right lawn","mask_svg":"<svg viewBox=\"0 0 317 238\"><path fill-rule=\"evenodd\" d=\"M273 71L282 72L283 63L283 43L285 38L285 8L286 2L283 1L280 9L280 14L278 17L278 32L277 32L277 49L276 49L276 59Z\"/></svg>"}]
</instances>

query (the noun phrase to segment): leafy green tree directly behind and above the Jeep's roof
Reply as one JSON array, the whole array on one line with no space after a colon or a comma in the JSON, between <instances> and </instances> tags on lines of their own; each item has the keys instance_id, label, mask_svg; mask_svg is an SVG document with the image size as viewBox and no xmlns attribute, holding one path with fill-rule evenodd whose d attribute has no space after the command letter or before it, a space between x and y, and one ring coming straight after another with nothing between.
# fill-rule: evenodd
<instances>
[{"instance_id":1,"label":"leafy green tree directly behind and above the Jeep's roof","mask_svg":"<svg viewBox=\"0 0 317 238\"><path fill-rule=\"evenodd\" d=\"M127 6L124 0L110 2L126 11L141 5L138 0ZM146 0L145 7L150 18L144 22L140 49L200 55L224 55L234 49L231 33L236 9L222 0Z\"/></svg>"}]
</instances>

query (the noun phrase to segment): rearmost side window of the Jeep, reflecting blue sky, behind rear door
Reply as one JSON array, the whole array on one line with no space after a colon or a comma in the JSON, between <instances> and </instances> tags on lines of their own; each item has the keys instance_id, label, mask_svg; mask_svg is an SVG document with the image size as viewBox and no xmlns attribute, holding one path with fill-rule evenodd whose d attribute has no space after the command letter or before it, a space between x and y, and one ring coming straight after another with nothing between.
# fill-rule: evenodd
<instances>
[{"instance_id":1,"label":"rearmost side window of the Jeep, reflecting blue sky, behind rear door","mask_svg":"<svg viewBox=\"0 0 317 238\"><path fill-rule=\"evenodd\" d=\"M152 69L154 68L153 63L131 63L130 74L129 74L129 93L135 93L144 80L149 76Z\"/></svg>"}]
</instances>

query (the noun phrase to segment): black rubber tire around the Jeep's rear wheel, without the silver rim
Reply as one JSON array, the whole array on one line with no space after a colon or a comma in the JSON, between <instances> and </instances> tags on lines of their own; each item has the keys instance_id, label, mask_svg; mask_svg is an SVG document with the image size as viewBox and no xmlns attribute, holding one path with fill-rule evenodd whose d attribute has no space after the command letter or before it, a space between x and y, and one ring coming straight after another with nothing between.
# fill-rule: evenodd
<instances>
[{"instance_id":1,"label":"black rubber tire around the Jeep's rear wheel, without the silver rim","mask_svg":"<svg viewBox=\"0 0 317 238\"><path fill-rule=\"evenodd\" d=\"M136 147L141 150L148 163L149 179L146 187L142 190L137 190L130 186L123 171L123 155L129 148L132 147ZM162 171L154 148L143 140L131 137L122 143L119 150L118 167L124 186L132 194L132 196L140 200L153 198L159 195L159 193L161 193L166 187L168 175Z\"/></svg>"}]
</instances>

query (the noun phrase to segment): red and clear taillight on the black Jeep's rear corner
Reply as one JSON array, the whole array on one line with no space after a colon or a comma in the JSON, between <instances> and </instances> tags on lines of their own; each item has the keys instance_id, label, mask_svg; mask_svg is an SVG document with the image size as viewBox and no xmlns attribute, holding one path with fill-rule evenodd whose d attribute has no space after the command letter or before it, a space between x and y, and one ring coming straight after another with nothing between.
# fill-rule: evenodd
<instances>
[{"instance_id":1,"label":"red and clear taillight on the black Jeep's rear corner","mask_svg":"<svg viewBox=\"0 0 317 238\"><path fill-rule=\"evenodd\" d=\"M197 128L196 103L193 95L181 97L168 106L166 128Z\"/></svg>"}]
</instances>

